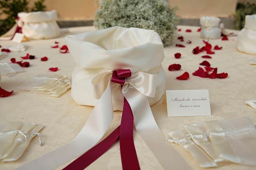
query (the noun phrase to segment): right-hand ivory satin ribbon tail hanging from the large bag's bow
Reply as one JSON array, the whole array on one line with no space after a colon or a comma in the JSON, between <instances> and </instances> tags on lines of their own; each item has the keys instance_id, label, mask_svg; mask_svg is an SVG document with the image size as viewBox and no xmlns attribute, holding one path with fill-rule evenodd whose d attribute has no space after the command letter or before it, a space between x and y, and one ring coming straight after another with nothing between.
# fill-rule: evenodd
<instances>
[{"instance_id":1,"label":"right-hand ivory satin ribbon tail hanging from the large bag's bow","mask_svg":"<svg viewBox=\"0 0 256 170\"><path fill-rule=\"evenodd\" d=\"M191 170L192 167L179 152L168 143L155 122L147 96L129 86L123 89L123 95L133 111L134 125L144 142L154 153L165 170ZM177 163L179 162L179 163Z\"/></svg>"}]
</instances>

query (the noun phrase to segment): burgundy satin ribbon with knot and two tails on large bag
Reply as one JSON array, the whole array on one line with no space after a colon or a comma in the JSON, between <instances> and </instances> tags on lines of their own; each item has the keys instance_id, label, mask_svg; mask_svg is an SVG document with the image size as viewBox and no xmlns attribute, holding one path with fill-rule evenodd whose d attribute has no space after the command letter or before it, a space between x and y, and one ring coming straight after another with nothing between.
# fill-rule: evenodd
<instances>
[{"instance_id":1,"label":"burgundy satin ribbon with knot and two tails on large bag","mask_svg":"<svg viewBox=\"0 0 256 170\"><path fill-rule=\"evenodd\" d=\"M130 69L116 70L112 73L111 82L125 84L125 78L130 77ZM102 142L95 145L86 153L78 157L63 170L84 170L91 163L102 156L119 139L123 170L140 170L137 153L133 143L133 112L126 98L123 101L121 125L118 126Z\"/></svg>"}]
</instances>

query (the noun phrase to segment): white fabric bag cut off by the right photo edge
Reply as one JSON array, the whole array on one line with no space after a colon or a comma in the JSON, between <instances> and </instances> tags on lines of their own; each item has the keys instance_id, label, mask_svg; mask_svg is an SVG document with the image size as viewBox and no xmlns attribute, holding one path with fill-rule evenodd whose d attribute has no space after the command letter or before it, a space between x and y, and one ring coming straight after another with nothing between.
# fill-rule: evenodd
<instances>
[{"instance_id":1,"label":"white fabric bag cut off by the right photo edge","mask_svg":"<svg viewBox=\"0 0 256 170\"><path fill-rule=\"evenodd\" d=\"M239 32L236 48L244 53L256 54L256 14L245 16L245 27Z\"/></svg>"}]
</instances>

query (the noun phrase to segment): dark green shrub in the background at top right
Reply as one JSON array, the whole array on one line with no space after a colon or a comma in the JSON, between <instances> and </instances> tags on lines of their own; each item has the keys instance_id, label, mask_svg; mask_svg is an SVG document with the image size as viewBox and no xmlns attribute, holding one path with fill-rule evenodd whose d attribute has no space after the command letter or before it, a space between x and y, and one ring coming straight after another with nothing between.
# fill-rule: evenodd
<instances>
[{"instance_id":1,"label":"dark green shrub in the background at top right","mask_svg":"<svg viewBox=\"0 0 256 170\"><path fill-rule=\"evenodd\" d=\"M256 14L256 4L238 3L234 16L235 29L241 30L245 26L245 15Z\"/></svg>"}]
</instances>

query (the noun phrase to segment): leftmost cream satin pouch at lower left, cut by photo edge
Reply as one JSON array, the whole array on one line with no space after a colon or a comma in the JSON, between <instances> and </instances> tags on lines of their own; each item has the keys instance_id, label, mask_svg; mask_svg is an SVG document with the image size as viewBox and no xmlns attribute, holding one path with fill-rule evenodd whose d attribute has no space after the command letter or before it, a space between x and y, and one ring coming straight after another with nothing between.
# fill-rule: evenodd
<instances>
[{"instance_id":1,"label":"leftmost cream satin pouch at lower left, cut by photo edge","mask_svg":"<svg viewBox=\"0 0 256 170\"><path fill-rule=\"evenodd\" d=\"M11 146L14 137L20 129L22 122L0 123L0 156Z\"/></svg>"}]
</instances>

